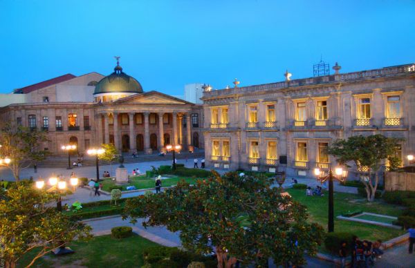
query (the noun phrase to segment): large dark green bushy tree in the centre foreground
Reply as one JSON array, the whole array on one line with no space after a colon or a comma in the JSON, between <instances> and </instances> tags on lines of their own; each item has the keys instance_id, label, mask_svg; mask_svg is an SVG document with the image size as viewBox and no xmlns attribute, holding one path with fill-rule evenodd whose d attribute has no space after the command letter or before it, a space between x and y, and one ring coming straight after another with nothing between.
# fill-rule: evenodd
<instances>
[{"instance_id":1,"label":"large dark green bushy tree in the centre foreground","mask_svg":"<svg viewBox=\"0 0 415 268\"><path fill-rule=\"evenodd\" d=\"M273 180L212 172L194 186L182 181L163 193L127 200L122 217L181 231L183 247L216 252L218 267L233 267L237 260L264 265L269 257L277 265L301 265L304 251L317 252L322 227L307 221L306 207L271 188Z\"/></svg>"}]
</instances>

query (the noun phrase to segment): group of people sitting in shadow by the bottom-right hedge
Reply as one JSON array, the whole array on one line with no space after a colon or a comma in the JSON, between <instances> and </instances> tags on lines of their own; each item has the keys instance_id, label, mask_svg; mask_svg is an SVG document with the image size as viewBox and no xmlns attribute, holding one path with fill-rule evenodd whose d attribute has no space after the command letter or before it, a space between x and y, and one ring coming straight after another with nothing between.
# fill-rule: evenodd
<instances>
[{"instance_id":1,"label":"group of people sitting in shadow by the bottom-right hedge","mask_svg":"<svg viewBox=\"0 0 415 268\"><path fill-rule=\"evenodd\" d=\"M351 252L351 267L369 267L374 265L376 258L382 258L383 251L382 240L370 242L368 240L359 240L357 236L353 236L351 245L342 241L340 245L339 256L342 260L342 267L346 267L346 259Z\"/></svg>"}]
</instances>

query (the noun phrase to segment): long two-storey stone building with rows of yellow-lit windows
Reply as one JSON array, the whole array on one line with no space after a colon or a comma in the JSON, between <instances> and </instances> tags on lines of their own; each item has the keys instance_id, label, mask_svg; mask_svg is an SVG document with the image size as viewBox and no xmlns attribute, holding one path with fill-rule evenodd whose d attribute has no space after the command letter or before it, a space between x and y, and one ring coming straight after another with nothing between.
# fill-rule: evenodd
<instances>
[{"instance_id":1,"label":"long two-storey stone building with rows of yellow-lit windows","mask_svg":"<svg viewBox=\"0 0 415 268\"><path fill-rule=\"evenodd\" d=\"M311 175L338 138L381 133L415 153L415 64L203 93L207 166ZM236 80L236 79L235 79ZM385 163L387 166L387 163Z\"/></svg>"}]
</instances>

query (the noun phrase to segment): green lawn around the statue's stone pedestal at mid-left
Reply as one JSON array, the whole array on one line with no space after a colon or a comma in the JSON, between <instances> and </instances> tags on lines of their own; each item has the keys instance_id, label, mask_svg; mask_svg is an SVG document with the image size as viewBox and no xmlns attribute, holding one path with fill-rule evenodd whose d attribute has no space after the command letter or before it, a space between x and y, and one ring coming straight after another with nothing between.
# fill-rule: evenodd
<instances>
[{"instance_id":1,"label":"green lawn around the statue's stone pedestal at mid-left","mask_svg":"<svg viewBox=\"0 0 415 268\"><path fill-rule=\"evenodd\" d=\"M190 184L194 184L197 179L195 178L189 178L189 177L172 177L169 179L165 179L161 181L162 187L172 186L176 185L179 180L185 180L186 182L189 182ZM154 178L148 178L145 176L135 176L130 177L129 184L123 184L122 185L122 191L127 191L127 186L136 186L136 189L149 189L154 188L155 184ZM102 190L104 191L111 191L111 186L115 186L116 182L111 179L105 179L102 181Z\"/></svg>"}]
</instances>

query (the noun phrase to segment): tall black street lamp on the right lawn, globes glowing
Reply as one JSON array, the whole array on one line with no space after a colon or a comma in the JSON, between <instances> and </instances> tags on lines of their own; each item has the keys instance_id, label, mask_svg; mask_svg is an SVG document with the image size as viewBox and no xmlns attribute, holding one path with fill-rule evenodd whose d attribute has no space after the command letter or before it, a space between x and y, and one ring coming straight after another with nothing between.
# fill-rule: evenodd
<instances>
[{"instance_id":1,"label":"tall black street lamp on the right lawn, globes glowing","mask_svg":"<svg viewBox=\"0 0 415 268\"><path fill-rule=\"evenodd\" d=\"M327 224L327 229L329 229L329 233L331 233L334 231L333 179L344 182L347 178L347 170L343 170L341 167L336 167L333 174L330 166L329 175L325 175L324 171L319 168L315 168L314 175L320 182L329 180L329 223Z\"/></svg>"}]
</instances>

